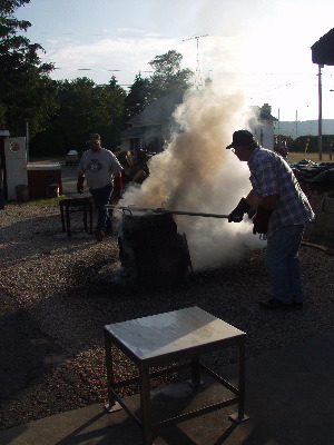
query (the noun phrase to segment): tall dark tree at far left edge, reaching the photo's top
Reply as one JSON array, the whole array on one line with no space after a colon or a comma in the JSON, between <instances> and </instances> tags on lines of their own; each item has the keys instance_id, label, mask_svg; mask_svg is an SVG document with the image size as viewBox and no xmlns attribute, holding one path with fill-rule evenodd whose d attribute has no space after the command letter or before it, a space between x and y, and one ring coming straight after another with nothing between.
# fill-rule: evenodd
<instances>
[{"instance_id":1,"label":"tall dark tree at far left edge, reaching the photo's top","mask_svg":"<svg viewBox=\"0 0 334 445\"><path fill-rule=\"evenodd\" d=\"M52 63L41 63L42 47L30 43L19 32L27 31L29 21L18 20L13 12L30 0L1 0L0 7L0 108L1 120L12 136L22 122L29 123L33 136L46 128L57 108L56 82L48 73Z\"/></svg>"}]
</instances>

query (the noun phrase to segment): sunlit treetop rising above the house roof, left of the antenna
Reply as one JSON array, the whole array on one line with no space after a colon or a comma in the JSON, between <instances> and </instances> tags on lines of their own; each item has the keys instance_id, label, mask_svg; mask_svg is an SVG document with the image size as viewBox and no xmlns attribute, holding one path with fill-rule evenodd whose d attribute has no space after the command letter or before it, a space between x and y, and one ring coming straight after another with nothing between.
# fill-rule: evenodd
<instances>
[{"instance_id":1,"label":"sunlit treetop rising above the house roof, left of the antenna","mask_svg":"<svg viewBox=\"0 0 334 445\"><path fill-rule=\"evenodd\" d=\"M149 62L154 69L150 77L150 101L189 88L193 71L188 68L181 69L181 60L183 56L179 52L169 50Z\"/></svg>"}]
</instances>

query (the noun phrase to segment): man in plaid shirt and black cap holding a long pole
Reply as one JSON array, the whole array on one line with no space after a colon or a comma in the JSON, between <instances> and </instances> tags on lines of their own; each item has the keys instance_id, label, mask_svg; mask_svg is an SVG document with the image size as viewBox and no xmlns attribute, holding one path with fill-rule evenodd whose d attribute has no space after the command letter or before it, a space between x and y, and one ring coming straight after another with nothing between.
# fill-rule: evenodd
<instances>
[{"instance_id":1,"label":"man in plaid shirt and black cap holding a long pole","mask_svg":"<svg viewBox=\"0 0 334 445\"><path fill-rule=\"evenodd\" d=\"M272 298L259 305L266 309L302 309L305 297L298 250L305 225L314 218L311 205L288 164L274 151L259 147L250 131L235 131L226 148L248 164L253 186L229 214L228 221L242 221L257 206L253 233L267 239Z\"/></svg>"}]
</instances>

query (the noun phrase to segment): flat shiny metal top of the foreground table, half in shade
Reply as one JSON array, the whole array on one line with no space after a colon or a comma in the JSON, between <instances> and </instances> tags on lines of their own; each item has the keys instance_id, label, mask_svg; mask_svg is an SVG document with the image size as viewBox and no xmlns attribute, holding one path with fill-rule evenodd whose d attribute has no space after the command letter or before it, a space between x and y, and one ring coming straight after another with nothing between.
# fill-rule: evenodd
<instances>
[{"instance_id":1,"label":"flat shiny metal top of the foreground table, half in shade","mask_svg":"<svg viewBox=\"0 0 334 445\"><path fill-rule=\"evenodd\" d=\"M122 352L147 366L245 342L246 334L197 306L105 326ZM188 354L187 354L188 353ZM170 357L171 356L171 357Z\"/></svg>"}]
</instances>

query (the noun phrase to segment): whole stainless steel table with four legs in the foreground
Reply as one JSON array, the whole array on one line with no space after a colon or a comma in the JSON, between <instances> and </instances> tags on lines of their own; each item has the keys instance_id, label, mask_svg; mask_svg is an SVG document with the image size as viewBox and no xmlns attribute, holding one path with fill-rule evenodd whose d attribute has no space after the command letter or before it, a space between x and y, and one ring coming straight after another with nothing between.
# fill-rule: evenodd
<instances>
[{"instance_id":1,"label":"whole stainless steel table with four legs in the foreground","mask_svg":"<svg viewBox=\"0 0 334 445\"><path fill-rule=\"evenodd\" d=\"M112 408L116 408L119 404L140 425L145 445L153 444L153 436L161 426L189 419L229 405L238 405L237 413L229 416L232 421L243 422L248 418L244 413L246 334L242 330L194 306L180 310L106 325L104 333L108 376L108 408L112 411ZM117 388L134 384L134 382L138 382L138 379L132 378L116 382L114 373L114 366L116 364L112 363L111 345L119 348L138 366L140 387L139 417L128 408L116 393ZM199 360L199 357L204 354L233 346L239 348L238 388L234 387ZM181 362L188 362L187 366L191 369L190 384L199 385L200 370L204 370L232 392L234 397L191 413L184 413L173 418L153 423L150 409L150 377L185 367L185 365L177 365ZM151 368L160 368L164 366L168 366L168 368L155 372L151 370Z\"/></svg>"}]
</instances>

